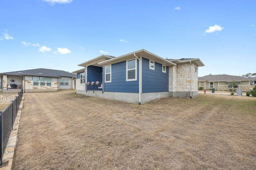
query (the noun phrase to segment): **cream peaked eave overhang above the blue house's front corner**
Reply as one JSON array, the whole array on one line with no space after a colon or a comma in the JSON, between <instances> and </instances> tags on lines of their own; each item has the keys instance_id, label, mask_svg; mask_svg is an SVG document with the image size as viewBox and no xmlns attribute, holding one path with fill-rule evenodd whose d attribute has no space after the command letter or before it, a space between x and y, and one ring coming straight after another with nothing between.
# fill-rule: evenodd
<instances>
[{"instance_id":1,"label":"cream peaked eave overhang above the blue house's front corner","mask_svg":"<svg viewBox=\"0 0 256 170\"><path fill-rule=\"evenodd\" d=\"M143 57L145 59L149 59L149 60L152 60L154 62L163 64L163 65L166 65L166 66L176 65L175 63L173 63L171 61L168 61L166 59L163 59L162 57L159 57L159 56L157 56L153 53L150 53L150 52L148 52L144 49L139 50L139 51L135 51L135 52L132 52L132 53L129 53L129 54L126 54L126 55L122 55L120 57L115 57L115 58L112 58L112 59L109 59L109 60L106 60L106 61L101 61L98 64L106 66L106 65L110 65L110 64L114 64L114 63L119 63L121 61L135 59L136 57L134 57L134 54L138 57Z\"/></svg>"}]
</instances>

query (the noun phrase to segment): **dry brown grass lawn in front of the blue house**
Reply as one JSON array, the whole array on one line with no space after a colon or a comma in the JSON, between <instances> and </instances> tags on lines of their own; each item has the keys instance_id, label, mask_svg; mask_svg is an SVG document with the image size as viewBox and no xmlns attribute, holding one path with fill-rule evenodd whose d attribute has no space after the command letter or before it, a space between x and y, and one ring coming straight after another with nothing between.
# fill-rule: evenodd
<instances>
[{"instance_id":1,"label":"dry brown grass lawn in front of the blue house","mask_svg":"<svg viewBox=\"0 0 256 170\"><path fill-rule=\"evenodd\" d=\"M125 96L124 96L125 97ZM256 169L256 98L26 93L14 170Z\"/></svg>"}]
</instances>

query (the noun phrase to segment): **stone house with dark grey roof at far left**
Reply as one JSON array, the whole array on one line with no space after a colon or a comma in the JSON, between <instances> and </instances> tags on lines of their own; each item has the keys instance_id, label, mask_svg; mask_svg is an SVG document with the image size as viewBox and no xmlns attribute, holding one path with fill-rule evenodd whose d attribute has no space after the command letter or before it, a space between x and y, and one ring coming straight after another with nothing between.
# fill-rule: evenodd
<instances>
[{"instance_id":1,"label":"stone house with dark grey roof at far left","mask_svg":"<svg viewBox=\"0 0 256 170\"><path fill-rule=\"evenodd\" d=\"M23 88L24 92L74 89L76 74L62 70L38 68L0 73L1 88Z\"/></svg>"}]
</instances>

